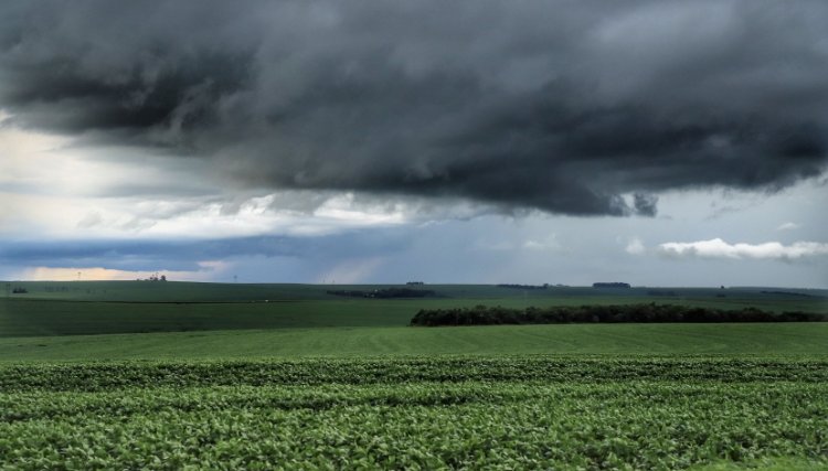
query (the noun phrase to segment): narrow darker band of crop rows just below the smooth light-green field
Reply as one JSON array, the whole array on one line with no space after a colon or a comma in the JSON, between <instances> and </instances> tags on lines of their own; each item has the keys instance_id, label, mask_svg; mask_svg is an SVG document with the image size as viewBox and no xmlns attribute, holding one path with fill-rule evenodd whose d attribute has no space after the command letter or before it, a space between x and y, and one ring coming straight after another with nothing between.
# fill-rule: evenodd
<instances>
[{"instance_id":1,"label":"narrow darker band of crop rows just below the smooth light-green field","mask_svg":"<svg viewBox=\"0 0 828 471\"><path fill-rule=\"evenodd\" d=\"M828 358L512 357L310 358L216 362L113 362L0 366L0 392L134 387L619 381L828 383Z\"/></svg>"}]
</instances>

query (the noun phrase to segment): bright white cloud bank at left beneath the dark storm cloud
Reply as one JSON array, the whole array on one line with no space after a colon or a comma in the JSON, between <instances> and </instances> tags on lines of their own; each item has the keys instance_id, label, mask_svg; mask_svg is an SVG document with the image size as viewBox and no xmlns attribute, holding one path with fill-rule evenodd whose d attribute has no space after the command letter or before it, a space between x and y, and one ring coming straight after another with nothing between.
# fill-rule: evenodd
<instances>
[{"instance_id":1,"label":"bright white cloud bank at left beneath the dark storm cloud","mask_svg":"<svg viewBox=\"0 0 828 471\"><path fill-rule=\"evenodd\" d=\"M320 236L427 224L498 207L338 191L240 191L182 159L89 148L6 121L0 109L0 237L179 238ZM115 159L112 156L117 156Z\"/></svg>"}]
</instances>

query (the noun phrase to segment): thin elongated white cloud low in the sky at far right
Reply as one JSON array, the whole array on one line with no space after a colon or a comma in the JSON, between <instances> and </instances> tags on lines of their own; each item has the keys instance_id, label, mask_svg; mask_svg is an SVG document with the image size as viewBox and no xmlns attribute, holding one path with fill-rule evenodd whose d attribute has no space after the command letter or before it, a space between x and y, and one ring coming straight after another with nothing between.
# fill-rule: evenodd
<instances>
[{"instance_id":1,"label":"thin elongated white cloud low in the sky at far right","mask_svg":"<svg viewBox=\"0 0 828 471\"><path fill-rule=\"evenodd\" d=\"M690 243L670 242L660 244L656 251L671 258L796 260L828 255L828 244L817 242L796 242L792 245L784 245L778 242L729 244L721 238L713 238Z\"/></svg>"}]
</instances>

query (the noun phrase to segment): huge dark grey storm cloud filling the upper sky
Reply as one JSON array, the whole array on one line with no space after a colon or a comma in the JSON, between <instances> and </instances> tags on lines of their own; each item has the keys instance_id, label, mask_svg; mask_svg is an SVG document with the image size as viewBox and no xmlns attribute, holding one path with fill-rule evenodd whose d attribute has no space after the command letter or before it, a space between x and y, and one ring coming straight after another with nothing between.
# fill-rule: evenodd
<instances>
[{"instance_id":1,"label":"huge dark grey storm cloud filling the upper sky","mask_svg":"<svg viewBox=\"0 0 828 471\"><path fill-rule=\"evenodd\" d=\"M661 191L826 168L821 1L0 9L0 104L21 125L244 186L655 215Z\"/></svg>"}]
</instances>

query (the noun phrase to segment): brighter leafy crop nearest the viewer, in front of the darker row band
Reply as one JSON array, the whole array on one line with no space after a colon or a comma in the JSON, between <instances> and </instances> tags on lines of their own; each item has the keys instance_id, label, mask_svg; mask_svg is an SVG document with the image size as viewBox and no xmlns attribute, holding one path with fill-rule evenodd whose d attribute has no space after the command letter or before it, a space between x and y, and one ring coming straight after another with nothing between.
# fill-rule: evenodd
<instances>
[{"instance_id":1,"label":"brighter leafy crop nearest the viewer, in front of the darker row band","mask_svg":"<svg viewBox=\"0 0 828 471\"><path fill-rule=\"evenodd\" d=\"M824 383L136 388L0 395L0 468L683 469L828 458Z\"/></svg>"}]
</instances>

